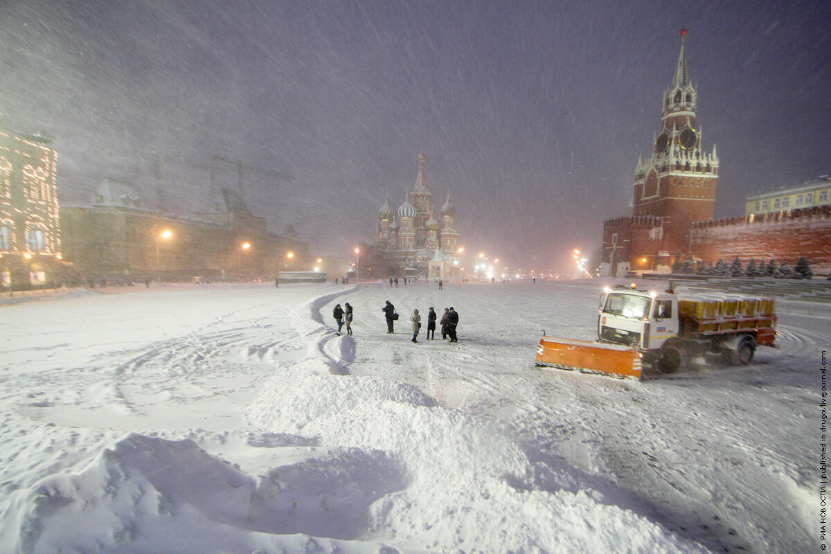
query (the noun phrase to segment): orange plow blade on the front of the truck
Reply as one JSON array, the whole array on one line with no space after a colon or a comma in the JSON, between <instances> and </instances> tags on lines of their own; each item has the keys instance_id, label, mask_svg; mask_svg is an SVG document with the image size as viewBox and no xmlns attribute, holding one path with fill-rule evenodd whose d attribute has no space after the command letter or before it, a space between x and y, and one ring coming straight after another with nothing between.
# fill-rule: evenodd
<instances>
[{"instance_id":1,"label":"orange plow blade on the front of the truck","mask_svg":"<svg viewBox=\"0 0 831 554\"><path fill-rule=\"evenodd\" d=\"M537 365L563 370L641 378L641 355L628 346L543 336L535 360Z\"/></svg>"}]
</instances>

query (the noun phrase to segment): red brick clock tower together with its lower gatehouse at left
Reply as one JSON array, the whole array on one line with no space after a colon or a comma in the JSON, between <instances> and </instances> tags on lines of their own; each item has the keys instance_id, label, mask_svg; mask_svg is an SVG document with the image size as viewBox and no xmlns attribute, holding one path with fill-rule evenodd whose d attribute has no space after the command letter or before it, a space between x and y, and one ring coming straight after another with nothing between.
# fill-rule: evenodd
<instances>
[{"instance_id":1,"label":"red brick clock tower together with its lower gatehouse at left","mask_svg":"<svg viewBox=\"0 0 831 554\"><path fill-rule=\"evenodd\" d=\"M719 159L715 145L709 153L702 149L686 34L681 29L681 51L661 99L661 129L652 154L637 162L632 213L603 224L602 267L607 274L668 272L676 254L691 253L691 223L713 218Z\"/></svg>"}]
</instances>

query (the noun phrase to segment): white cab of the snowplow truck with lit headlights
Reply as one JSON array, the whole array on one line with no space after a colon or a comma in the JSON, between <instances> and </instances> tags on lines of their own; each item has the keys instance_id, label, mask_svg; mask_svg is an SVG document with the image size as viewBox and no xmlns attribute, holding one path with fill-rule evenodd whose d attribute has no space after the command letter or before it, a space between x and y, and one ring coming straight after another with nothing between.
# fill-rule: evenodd
<instances>
[{"instance_id":1,"label":"white cab of the snowplow truck with lit headlights","mask_svg":"<svg viewBox=\"0 0 831 554\"><path fill-rule=\"evenodd\" d=\"M655 351L678 336L678 299L669 292L605 290L597 337L602 342Z\"/></svg>"}]
</instances>

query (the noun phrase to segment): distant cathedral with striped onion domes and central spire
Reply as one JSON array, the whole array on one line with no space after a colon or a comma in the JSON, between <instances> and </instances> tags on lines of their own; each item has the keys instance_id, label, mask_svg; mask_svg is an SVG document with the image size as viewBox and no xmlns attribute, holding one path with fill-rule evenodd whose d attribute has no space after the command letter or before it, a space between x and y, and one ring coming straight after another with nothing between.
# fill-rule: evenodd
<instances>
[{"instance_id":1,"label":"distant cathedral with striped onion domes and central spire","mask_svg":"<svg viewBox=\"0 0 831 554\"><path fill-rule=\"evenodd\" d=\"M435 213L433 194L427 184L424 150L418 160L416 184L406 194L401 207L394 211L387 196L378 211L376 246L392 254L401 274L417 273L426 277L429 267L434 267L435 272L435 267L440 264L441 276L455 277L459 268L455 208L448 194L441 213Z\"/></svg>"}]
</instances>

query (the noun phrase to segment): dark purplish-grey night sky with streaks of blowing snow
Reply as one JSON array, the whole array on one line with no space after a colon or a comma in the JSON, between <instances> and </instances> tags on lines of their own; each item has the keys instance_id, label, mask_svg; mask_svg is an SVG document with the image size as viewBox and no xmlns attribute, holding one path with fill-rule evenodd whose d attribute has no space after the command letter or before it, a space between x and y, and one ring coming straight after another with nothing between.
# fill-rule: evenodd
<instances>
[{"instance_id":1,"label":"dark purplish-grey night sky with streaks of blowing snow","mask_svg":"<svg viewBox=\"0 0 831 554\"><path fill-rule=\"evenodd\" d=\"M331 254L373 238L423 145L460 243L544 267L626 213L682 25L716 217L828 174L829 23L831 2L6 0L0 126L55 138L63 203L116 177L199 208L188 164L214 154L290 174L245 174L248 203Z\"/></svg>"}]
</instances>

